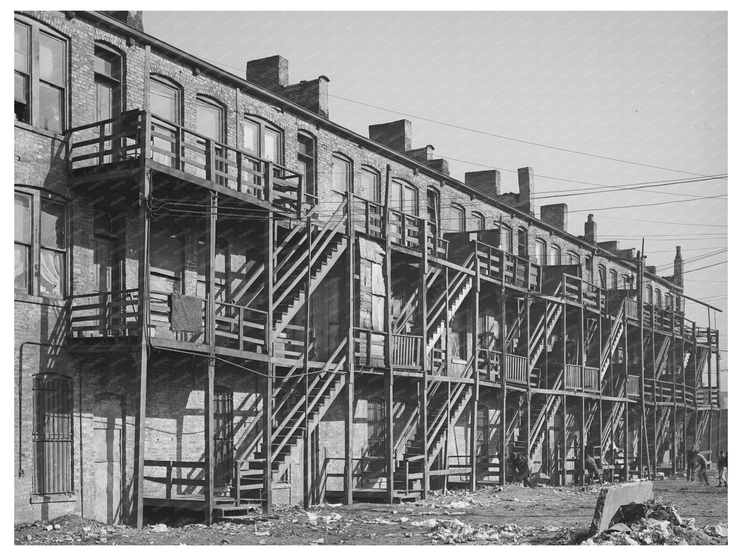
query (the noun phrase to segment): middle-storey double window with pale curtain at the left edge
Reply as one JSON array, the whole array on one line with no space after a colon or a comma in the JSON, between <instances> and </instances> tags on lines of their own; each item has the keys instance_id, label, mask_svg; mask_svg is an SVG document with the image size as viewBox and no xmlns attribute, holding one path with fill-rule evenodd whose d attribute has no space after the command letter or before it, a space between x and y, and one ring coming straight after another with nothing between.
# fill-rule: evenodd
<instances>
[{"instance_id":1,"label":"middle-storey double window with pale curtain at the left edge","mask_svg":"<svg viewBox=\"0 0 742 556\"><path fill-rule=\"evenodd\" d=\"M39 194L16 192L14 278L16 292L65 295L67 207ZM38 236L33 222L39 223ZM38 249L36 249L38 246ZM38 264L39 272L33 272Z\"/></svg>"}]
</instances>

